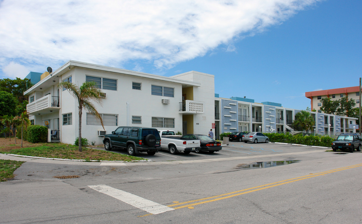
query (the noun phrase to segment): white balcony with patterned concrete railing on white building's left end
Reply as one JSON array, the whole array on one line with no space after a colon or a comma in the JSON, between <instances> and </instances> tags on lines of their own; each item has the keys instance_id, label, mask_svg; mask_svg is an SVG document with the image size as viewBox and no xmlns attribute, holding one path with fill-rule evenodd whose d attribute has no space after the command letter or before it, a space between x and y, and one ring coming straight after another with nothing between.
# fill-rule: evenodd
<instances>
[{"instance_id":1,"label":"white balcony with patterned concrete railing on white building's left end","mask_svg":"<svg viewBox=\"0 0 362 224\"><path fill-rule=\"evenodd\" d=\"M26 111L30 115L50 114L55 110L59 111L59 109L59 97L51 96L50 94L26 105Z\"/></svg>"}]
</instances>

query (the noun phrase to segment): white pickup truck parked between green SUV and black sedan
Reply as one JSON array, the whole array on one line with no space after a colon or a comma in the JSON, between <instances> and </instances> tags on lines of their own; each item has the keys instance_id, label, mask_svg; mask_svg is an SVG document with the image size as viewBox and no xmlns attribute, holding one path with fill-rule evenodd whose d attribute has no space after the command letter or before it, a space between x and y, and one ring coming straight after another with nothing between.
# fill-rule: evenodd
<instances>
[{"instance_id":1,"label":"white pickup truck parked between green SUV and black sedan","mask_svg":"<svg viewBox=\"0 0 362 224\"><path fill-rule=\"evenodd\" d=\"M168 149L172 155L176 155L178 151L185 154L201 149L200 140L181 138L174 131L161 130L161 149Z\"/></svg>"}]
</instances>

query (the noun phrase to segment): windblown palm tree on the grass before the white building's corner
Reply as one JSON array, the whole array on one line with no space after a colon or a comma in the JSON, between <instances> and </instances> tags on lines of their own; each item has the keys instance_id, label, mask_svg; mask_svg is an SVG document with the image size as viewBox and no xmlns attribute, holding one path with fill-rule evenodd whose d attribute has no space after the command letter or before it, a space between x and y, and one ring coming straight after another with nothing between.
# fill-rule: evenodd
<instances>
[{"instance_id":1,"label":"windblown palm tree on the grass before the white building's corner","mask_svg":"<svg viewBox=\"0 0 362 224\"><path fill-rule=\"evenodd\" d=\"M85 82L83 85L78 87L74 83L69 82L61 82L58 84L58 87L67 88L68 91L73 94L73 96L78 100L78 114L79 114L79 137L78 137L78 147L79 152L82 151L82 110L83 108L90 113L92 113L96 118L100 119L102 127L103 121L101 115L98 113L93 103L90 100L96 101L99 105L101 105L102 96L104 96L104 92L97 88L97 83L95 82Z\"/></svg>"}]
</instances>

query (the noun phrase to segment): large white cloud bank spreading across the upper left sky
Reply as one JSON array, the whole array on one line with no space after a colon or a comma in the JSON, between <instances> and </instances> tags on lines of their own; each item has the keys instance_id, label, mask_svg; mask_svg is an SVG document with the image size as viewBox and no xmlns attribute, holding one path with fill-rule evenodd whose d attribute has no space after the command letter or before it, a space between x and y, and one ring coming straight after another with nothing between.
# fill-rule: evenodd
<instances>
[{"instance_id":1,"label":"large white cloud bank spreading across the upper left sky","mask_svg":"<svg viewBox=\"0 0 362 224\"><path fill-rule=\"evenodd\" d=\"M316 1L2 0L0 62L44 71L68 60L118 67L145 60L170 68L221 44L235 51L235 39Z\"/></svg>"}]
</instances>

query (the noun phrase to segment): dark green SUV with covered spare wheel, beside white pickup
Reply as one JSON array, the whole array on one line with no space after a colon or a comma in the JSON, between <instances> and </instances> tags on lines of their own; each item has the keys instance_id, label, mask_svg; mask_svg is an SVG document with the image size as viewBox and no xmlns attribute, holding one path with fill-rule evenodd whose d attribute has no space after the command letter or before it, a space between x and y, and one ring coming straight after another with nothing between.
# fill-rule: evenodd
<instances>
[{"instance_id":1,"label":"dark green SUV with covered spare wheel, beside white pickup","mask_svg":"<svg viewBox=\"0 0 362 224\"><path fill-rule=\"evenodd\" d=\"M156 128L148 127L118 127L112 134L104 136L104 148L126 148L130 156L139 152L155 155L161 149L161 137Z\"/></svg>"}]
</instances>

